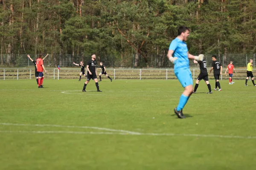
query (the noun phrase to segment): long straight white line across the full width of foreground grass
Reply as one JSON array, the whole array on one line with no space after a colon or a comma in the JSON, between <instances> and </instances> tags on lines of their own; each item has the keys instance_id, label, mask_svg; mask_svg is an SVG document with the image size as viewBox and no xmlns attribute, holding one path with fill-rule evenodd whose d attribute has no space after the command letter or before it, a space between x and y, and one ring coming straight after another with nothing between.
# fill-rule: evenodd
<instances>
[{"instance_id":1,"label":"long straight white line across the full width of foreground grass","mask_svg":"<svg viewBox=\"0 0 256 170\"><path fill-rule=\"evenodd\" d=\"M121 132L79 132L79 131L12 131L0 130L0 133L64 133L64 134L105 134L105 135L137 135L137 136L193 136L209 138L236 138L236 139L256 139L256 136L226 136L226 135L200 135L200 134L175 134L175 133L121 133Z\"/></svg>"}]
</instances>

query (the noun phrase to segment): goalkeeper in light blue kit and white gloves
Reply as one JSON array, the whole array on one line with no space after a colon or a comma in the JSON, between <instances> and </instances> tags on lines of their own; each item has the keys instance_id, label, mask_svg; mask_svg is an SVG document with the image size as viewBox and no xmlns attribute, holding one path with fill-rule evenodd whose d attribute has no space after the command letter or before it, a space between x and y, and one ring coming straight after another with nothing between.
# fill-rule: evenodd
<instances>
[{"instance_id":1,"label":"goalkeeper in light blue kit and white gloves","mask_svg":"<svg viewBox=\"0 0 256 170\"><path fill-rule=\"evenodd\" d=\"M185 42L188 36L189 28L180 26L178 28L178 36L172 40L167 54L168 59L174 64L175 76L185 89L183 94L180 96L180 102L177 108L174 109L175 114L180 119L186 118L182 113L182 109L193 93L193 79L191 71L189 70L189 59L195 59L197 61L202 61L204 59L203 54L200 54L199 56L193 56L189 54Z\"/></svg>"}]
</instances>

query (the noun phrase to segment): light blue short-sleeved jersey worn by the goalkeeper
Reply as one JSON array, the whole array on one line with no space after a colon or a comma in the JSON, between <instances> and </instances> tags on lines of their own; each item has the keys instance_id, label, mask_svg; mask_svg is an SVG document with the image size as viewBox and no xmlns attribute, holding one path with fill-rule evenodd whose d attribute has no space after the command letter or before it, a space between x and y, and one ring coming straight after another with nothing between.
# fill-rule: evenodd
<instances>
[{"instance_id":1,"label":"light blue short-sleeved jersey worn by the goalkeeper","mask_svg":"<svg viewBox=\"0 0 256 170\"><path fill-rule=\"evenodd\" d=\"M177 37L172 40L169 50L173 50L172 57L177 57L177 62L174 69L187 69L189 68L188 48L186 42L181 41Z\"/></svg>"}]
</instances>

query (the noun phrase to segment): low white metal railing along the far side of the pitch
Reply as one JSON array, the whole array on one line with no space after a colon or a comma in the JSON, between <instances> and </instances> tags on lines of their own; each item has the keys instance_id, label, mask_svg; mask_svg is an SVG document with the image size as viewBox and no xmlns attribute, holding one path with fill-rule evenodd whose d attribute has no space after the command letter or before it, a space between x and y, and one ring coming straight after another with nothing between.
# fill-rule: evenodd
<instances>
[{"instance_id":1,"label":"low white metal railing along the far side of the pitch","mask_svg":"<svg viewBox=\"0 0 256 170\"><path fill-rule=\"evenodd\" d=\"M190 69L193 79L196 79L200 73L200 69ZM107 69L108 75L113 79L177 79L174 69ZM233 75L233 79L245 79L247 69L236 69L237 73ZM80 69L76 68L58 68L47 69L44 77L47 79L78 79ZM224 73L224 71L223 71ZM98 73L99 74L99 73ZM32 68L0 68L0 79L33 79L35 70ZM84 77L83 77L84 78ZM102 79L105 79L102 75ZM228 74L222 74L222 79L229 79ZM209 74L209 79L214 79L213 74Z\"/></svg>"}]
</instances>

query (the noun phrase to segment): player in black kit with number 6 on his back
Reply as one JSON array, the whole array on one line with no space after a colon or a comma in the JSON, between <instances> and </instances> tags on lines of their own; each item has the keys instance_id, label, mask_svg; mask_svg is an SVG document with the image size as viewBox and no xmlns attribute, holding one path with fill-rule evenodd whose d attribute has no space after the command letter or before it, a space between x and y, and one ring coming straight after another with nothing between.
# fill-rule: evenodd
<instances>
[{"instance_id":1,"label":"player in black kit with number 6 on his back","mask_svg":"<svg viewBox=\"0 0 256 170\"><path fill-rule=\"evenodd\" d=\"M222 65L220 62L217 61L216 59L217 57L214 55L212 56L212 68L211 70L209 71L209 73L211 73L212 69L213 69L213 76L214 76L214 79L215 79L215 89L214 90L217 90L217 86L219 88L218 91L221 91L221 85L220 85L220 82L219 82L219 79L220 79L220 75L222 74Z\"/></svg>"}]
</instances>

